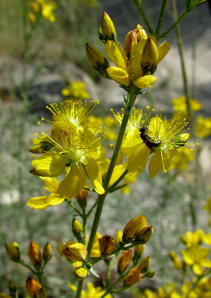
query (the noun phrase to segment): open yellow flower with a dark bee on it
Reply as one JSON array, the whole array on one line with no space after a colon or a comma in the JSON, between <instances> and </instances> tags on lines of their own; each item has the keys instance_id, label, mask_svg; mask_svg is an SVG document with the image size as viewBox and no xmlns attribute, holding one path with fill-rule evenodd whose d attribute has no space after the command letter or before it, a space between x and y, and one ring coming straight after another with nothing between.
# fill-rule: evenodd
<instances>
[{"instance_id":1,"label":"open yellow flower with a dark bee on it","mask_svg":"<svg viewBox=\"0 0 211 298\"><path fill-rule=\"evenodd\" d=\"M147 114L145 115L147 116ZM150 118L150 121L148 118ZM149 126L145 124L141 126L146 131L144 135L147 141L138 137L123 144L122 151L128 158L127 169L128 174L131 176L141 173L147 164L149 153L154 153L149 164L150 177L154 178L160 170L167 172L173 159L178 154L177 149L187 142L189 134L185 131L182 134L181 132L188 122L185 122L185 119L182 122L177 122L176 118L172 119L170 123L166 119L163 122L161 115L160 117L157 115L151 118L150 114L147 117L147 122Z\"/></svg>"}]
</instances>

